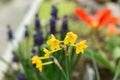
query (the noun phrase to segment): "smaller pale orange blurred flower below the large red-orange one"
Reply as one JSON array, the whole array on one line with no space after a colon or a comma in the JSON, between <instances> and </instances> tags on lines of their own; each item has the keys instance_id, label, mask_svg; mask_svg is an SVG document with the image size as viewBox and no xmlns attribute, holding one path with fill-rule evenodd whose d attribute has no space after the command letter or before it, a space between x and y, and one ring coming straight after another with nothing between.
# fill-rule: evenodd
<instances>
[{"instance_id":1,"label":"smaller pale orange blurred flower below the large red-orange one","mask_svg":"<svg viewBox=\"0 0 120 80\"><path fill-rule=\"evenodd\" d=\"M110 24L107 33L108 36L118 34L118 29L114 24Z\"/></svg>"}]
</instances>

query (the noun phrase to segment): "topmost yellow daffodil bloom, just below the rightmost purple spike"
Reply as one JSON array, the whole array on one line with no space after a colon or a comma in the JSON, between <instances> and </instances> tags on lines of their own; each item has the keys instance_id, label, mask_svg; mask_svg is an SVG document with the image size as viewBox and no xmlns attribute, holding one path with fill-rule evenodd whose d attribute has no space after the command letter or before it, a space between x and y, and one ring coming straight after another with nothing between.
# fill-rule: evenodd
<instances>
[{"instance_id":1,"label":"topmost yellow daffodil bloom, just below the rightmost purple spike","mask_svg":"<svg viewBox=\"0 0 120 80\"><path fill-rule=\"evenodd\" d=\"M68 32L64 39L64 44L70 43L71 45L74 45L77 38L78 36L76 34L74 34L73 32Z\"/></svg>"}]
</instances>

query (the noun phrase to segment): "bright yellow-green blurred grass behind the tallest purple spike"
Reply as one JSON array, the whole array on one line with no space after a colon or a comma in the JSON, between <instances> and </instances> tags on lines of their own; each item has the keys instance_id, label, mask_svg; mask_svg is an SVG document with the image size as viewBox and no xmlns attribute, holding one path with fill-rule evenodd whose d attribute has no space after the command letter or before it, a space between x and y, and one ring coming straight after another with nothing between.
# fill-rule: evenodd
<instances>
[{"instance_id":1,"label":"bright yellow-green blurred grass behind the tallest purple spike","mask_svg":"<svg viewBox=\"0 0 120 80\"><path fill-rule=\"evenodd\" d=\"M54 2L50 0L43 1L38 11L40 15L40 19L50 19L51 7L53 4ZM64 15L70 15L73 12L74 8L76 7L76 4L73 3L72 1L64 1L64 0L61 0L56 5L58 7L59 17L63 17Z\"/></svg>"}]
</instances>

